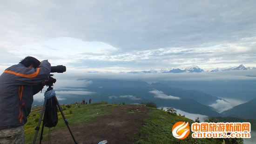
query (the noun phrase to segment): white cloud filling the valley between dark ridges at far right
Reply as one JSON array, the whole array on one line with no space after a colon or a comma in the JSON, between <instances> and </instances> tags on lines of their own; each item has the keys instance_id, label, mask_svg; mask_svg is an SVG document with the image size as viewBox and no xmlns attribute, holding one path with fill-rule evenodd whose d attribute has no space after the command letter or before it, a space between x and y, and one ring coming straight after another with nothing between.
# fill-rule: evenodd
<instances>
[{"instance_id":1,"label":"white cloud filling the valley between dark ridges at far right","mask_svg":"<svg viewBox=\"0 0 256 144\"><path fill-rule=\"evenodd\" d=\"M214 109L217 110L217 112L221 113L223 111L232 109L236 105L241 105L243 103L246 103L246 101L238 100L234 98L222 98L222 99L217 99L216 103L211 104L209 106L213 107Z\"/></svg>"}]
</instances>

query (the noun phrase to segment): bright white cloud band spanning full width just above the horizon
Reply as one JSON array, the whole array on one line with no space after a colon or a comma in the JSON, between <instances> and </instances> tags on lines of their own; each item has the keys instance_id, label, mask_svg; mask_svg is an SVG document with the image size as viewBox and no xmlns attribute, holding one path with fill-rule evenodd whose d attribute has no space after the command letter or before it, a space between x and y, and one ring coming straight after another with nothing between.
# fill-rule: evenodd
<instances>
[{"instance_id":1,"label":"bright white cloud band spanning full width just above the horizon","mask_svg":"<svg viewBox=\"0 0 256 144\"><path fill-rule=\"evenodd\" d=\"M180 65L198 65L201 68L240 64L256 66L256 44L252 42L255 40L256 37L209 47L167 47L121 52L119 48L107 43L62 37L8 48L1 54L3 57L0 65L16 64L20 59L31 55L40 60L48 59L52 65L67 65L69 68L79 69L97 68L101 72L109 71L108 69L119 72ZM8 60L6 55L11 55L13 59Z\"/></svg>"}]
</instances>

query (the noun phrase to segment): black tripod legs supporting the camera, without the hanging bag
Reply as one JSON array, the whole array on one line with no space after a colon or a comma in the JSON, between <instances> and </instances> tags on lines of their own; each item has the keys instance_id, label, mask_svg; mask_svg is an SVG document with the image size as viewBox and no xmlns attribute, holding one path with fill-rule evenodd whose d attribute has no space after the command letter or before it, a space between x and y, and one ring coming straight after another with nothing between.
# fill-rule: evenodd
<instances>
[{"instance_id":1,"label":"black tripod legs supporting the camera, without the hanging bag","mask_svg":"<svg viewBox=\"0 0 256 144\"><path fill-rule=\"evenodd\" d=\"M52 85L49 85L49 88L47 89L47 91L50 91L50 90L53 89L51 86L52 86ZM74 143L77 144L77 142L75 141L74 136L73 136L73 134L72 134L72 132L71 132L71 130L70 130L70 127L69 127L69 125L68 125L67 119L66 119L66 117L64 116L64 113L63 113L63 111L62 111L61 105L59 104L59 102L58 102L58 100L57 100L57 98L56 98L56 95L55 95L53 98L55 99L55 101L56 101L56 103L57 103L57 106L58 106L59 110L61 111L61 115L62 115L62 117L63 117L63 119L64 119L64 121L65 121L65 124L67 125L67 129L68 129L68 131L70 132L71 137L72 137L73 140L74 140ZM43 117L43 114L44 114L45 109L46 109L46 105L47 105L47 99L45 99L45 101L44 101L44 105L43 105L43 108L42 108L42 111L41 111L41 115L40 115L40 118L39 118L39 122L38 122L37 127L35 128L36 133L35 133L35 136L34 136L34 142L33 142L33 144L35 144L36 137L37 137L38 131L39 131L39 129L40 129L40 124L41 124L41 121L42 121L42 117ZM44 126L45 126L45 124L44 124L44 121L43 121L42 130L41 130L41 136L40 136L40 144L41 144L41 140L43 139L42 136L43 136Z\"/></svg>"}]
</instances>

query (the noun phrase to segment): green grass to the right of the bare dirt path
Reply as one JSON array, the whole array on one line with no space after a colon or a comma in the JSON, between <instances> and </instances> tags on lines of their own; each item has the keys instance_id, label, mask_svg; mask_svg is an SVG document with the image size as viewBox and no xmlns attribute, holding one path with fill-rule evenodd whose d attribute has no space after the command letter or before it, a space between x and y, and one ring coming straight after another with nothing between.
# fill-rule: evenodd
<instances>
[{"instance_id":1,"label":"green grass to the right of the bare dirt path","mask_svg":"<svg viewBox=\"0 0 256 144\"><path fill-rule=\"evenodd\" d=\"M195 123L193 120L155 108L152 108L148 115L150 118L144 120L135 137L135 144L222 144L223 142L220 138L192 138L191 131L188 137L177 139L172 135L173 125L179 121L189 122L191 130L191 124Z\"/></svg>"}]
</instances>

